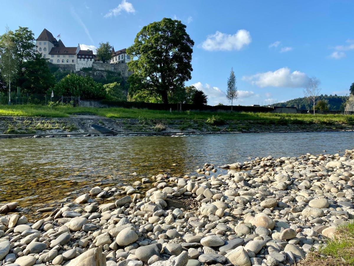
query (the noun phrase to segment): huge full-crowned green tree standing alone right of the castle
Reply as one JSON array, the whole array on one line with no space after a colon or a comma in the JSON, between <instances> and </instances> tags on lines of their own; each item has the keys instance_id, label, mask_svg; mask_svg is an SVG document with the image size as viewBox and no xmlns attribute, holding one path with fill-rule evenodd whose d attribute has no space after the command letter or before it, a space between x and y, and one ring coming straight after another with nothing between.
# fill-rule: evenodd
<instances>
[{"instance_id":1,"label":"huge full-crowned green tree standing alone right of the castle","mask_svg":"<svg viewBox=\"0 0 354 266\"><path fill-rule=\"evenodd\" d=\"M179 20L163 18L144 26L136 35L127 54L136 60L128 62L134 73L129 79L133 91L145 90L161 95L169 102L168 95L191 79L194 41Z\"/></svg>"}]
</instances>

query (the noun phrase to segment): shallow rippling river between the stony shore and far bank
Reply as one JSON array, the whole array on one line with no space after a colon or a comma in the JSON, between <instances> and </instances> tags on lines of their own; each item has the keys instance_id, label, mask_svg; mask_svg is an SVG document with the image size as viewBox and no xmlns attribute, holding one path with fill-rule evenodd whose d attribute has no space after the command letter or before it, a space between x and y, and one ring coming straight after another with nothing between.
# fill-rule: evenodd
<instances>
[{"instance_id":1,"label":"shallow rippling river between the stony shore and far bank","mask_svg":"<svg viewBox=\"0 0 354 266\"><path fill-rule=\"evenodd\" d=\"M205 162L334 154L354 148L353 137L354 132L306 132L0 139L0 204L19 201L28 212L57 206L96 185L131 184L166 170L184 175Z\"/></svg>"}]
</instances>

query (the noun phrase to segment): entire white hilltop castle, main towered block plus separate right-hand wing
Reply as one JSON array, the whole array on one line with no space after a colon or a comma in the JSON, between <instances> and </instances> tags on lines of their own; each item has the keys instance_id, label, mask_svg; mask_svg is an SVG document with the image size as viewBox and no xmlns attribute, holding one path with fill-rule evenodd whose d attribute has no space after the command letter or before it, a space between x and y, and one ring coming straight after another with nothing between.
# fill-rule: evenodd
<instances>
[{"instance_id":1,"label":"entire white hilltop castle, main towered block plus separate right-hand wing","mask_svg":"<svg viewBox=\"0 0 354 266\"><path fill-rule=\"evenodd\" d=\"M58 35L57 37L60 37ZM93 62L99 63L99 59L93 54L92 50L81 50L80 44L77 47L66 47L61 39L59 41L53 37L53 34L44 29L36 39L37 51L42 54L42 57L50 63L61 66L70 67L73 71L79 71L83 67L92 67ZM126 54L126 49L114 51L112 49L112 57L109 61L111 64L127 63L130 55ZM97 65L97 63L95 65Z\"/></svg>"}]
</instances>

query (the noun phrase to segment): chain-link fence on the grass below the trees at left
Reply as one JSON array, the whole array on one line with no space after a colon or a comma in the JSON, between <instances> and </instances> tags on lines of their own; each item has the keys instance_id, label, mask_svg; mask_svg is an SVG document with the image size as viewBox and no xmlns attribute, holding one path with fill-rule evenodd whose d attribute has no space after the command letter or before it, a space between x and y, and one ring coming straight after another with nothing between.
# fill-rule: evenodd
<instances>
[{"instance_id":1,"label":"chain-link fence on the grass below the trees at left","mask_svg":"<svg viewBox=\"0 0 354 266\"><path fill-rule=\"evenodd\" d=\"M0 92L0 104L8 104L8 92ZM37 105L80 105L80 97L11 92L11 104L37 104Z\"/></svg>"}]
</instances>

